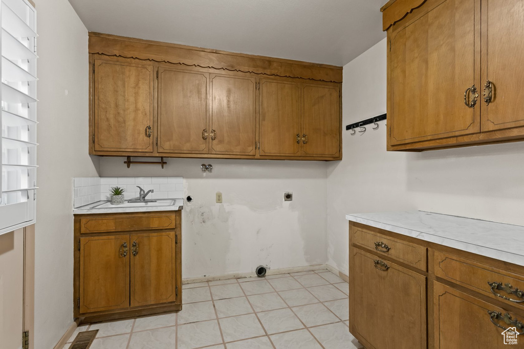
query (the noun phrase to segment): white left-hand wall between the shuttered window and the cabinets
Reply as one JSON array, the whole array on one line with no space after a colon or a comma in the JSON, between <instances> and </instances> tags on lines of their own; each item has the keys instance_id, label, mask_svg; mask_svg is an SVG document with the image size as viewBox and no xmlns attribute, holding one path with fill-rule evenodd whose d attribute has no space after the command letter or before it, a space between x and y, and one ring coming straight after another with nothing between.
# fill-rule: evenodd
<instances>
[{"instance_id":1,"label":"white left-hand wall between the shuttered window and the cabinets","mask_svg":"<svg viewBox=\"0 0 524 349\"><path fill-rule=\"evenodd\" d=\"M35 348L73 322L72 177L97 176L88 155L88 32L67 0L37 1L38 186ZM65 95L65 90L68 94Z\"/></svg>"}]
</instances>

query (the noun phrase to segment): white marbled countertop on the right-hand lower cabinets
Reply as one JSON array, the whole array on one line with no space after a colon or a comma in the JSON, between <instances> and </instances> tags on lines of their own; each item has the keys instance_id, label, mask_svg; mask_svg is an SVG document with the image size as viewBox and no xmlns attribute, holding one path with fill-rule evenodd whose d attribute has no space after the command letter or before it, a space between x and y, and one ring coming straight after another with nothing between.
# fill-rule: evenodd
<instances>
[{"instance_id":1,"label":"white marbled countertop on the right-hand lower cabinets","mask_svg":"<svg viewBox=\"0 0 524 349\"><path fill-rule=\"evenodd\" d=\"M346 219L524 266L524 227L423 211L355 213Z\"/></svg>"}]
</instances>

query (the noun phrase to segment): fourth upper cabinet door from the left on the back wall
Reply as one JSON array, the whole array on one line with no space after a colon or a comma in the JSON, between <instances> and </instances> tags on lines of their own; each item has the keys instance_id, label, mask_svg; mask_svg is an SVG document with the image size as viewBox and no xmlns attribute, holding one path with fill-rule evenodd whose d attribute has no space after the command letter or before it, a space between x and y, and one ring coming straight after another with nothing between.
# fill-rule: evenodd
<instances>
[{"instance_id":1,"label":"fourth upper cabinet door from the left on the back wall","mask_svg":"<svg viewBox=\"0 0 524 349\"><path fill-rule=\"evenodd\" d=\"M300 84L260 79L260 155L300 155Z\"/></svg>"}]
</instances>

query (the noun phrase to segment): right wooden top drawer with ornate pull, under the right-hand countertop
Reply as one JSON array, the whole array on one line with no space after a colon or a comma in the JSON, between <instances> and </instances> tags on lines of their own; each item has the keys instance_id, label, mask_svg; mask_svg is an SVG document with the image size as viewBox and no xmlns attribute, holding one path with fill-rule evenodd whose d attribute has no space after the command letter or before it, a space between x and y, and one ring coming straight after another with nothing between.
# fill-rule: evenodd
<instances>
[{"instance_id":1,"label":"right wooden top drawer with ornate pull, under the right-hand countertop","mask_svg":"<svg viewBox=\"0 0 524 349\"><path fill-rule=\"evenodd\" d=\"M524 276L522 275L435 251L435 276L524 308Z\"/></svg>"}]
</instances>

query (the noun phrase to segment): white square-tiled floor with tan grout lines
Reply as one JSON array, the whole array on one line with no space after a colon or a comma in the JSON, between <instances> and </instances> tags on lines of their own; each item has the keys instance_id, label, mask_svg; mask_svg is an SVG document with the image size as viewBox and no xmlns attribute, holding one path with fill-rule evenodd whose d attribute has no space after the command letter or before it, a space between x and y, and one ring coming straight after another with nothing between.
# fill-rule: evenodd
<instances>
[{"instance_id":1,"label":"white square-tiled floor with tan grout lines","mask_svg":"<svg viewBox=\"0 0 524 349\"><path fill-rule=\"evenodd\" d=\"M183 285L178 314L96 323L91 349L357 349L349 285L322 269Z\"/></svg>"}]
</instances>

